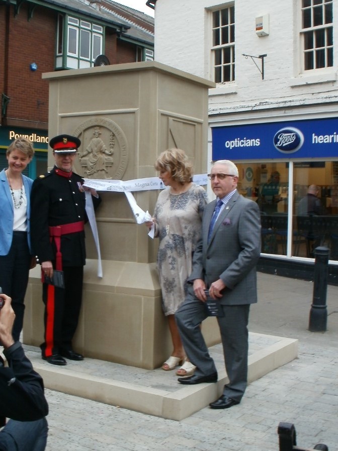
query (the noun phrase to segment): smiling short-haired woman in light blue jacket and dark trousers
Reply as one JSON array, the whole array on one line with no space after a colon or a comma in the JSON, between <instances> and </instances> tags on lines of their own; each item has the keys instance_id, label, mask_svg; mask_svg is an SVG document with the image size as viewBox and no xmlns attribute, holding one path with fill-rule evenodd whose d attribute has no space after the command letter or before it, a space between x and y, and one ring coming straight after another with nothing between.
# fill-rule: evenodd
<instances>
[{"instance_id":1,"label":"smiling short-haired woman in light blue jacket and dark trousers","mask_svg":"<svg viewBox=\"0 0 338 451\"><path fill-rule=\"evenodd\" d=\"M36 265L30 240L30 193L33 180L23 172L34 156L33 144L15 139L6 151L8 168L0 173L0 286L12 297L16 341L24 321L29 270Z\"/></svg>"}]
</instances>

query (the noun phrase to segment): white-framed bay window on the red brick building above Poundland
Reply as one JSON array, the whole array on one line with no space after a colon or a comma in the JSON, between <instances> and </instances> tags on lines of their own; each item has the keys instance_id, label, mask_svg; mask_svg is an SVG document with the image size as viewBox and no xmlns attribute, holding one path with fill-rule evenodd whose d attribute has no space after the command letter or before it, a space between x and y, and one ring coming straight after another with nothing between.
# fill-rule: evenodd
<instances>
[{"instance_id":1,"label":"white-framed bay window on the red brick building above Poundland","mask_svg":"<svg viewBox=\"0 0 338 451\"><path fill-rule=\"evenodd\" d=\"M95 58L103 53L103 34L101 25L59 14L56 69L94 66Z\"/></svg>"}]
</instances>

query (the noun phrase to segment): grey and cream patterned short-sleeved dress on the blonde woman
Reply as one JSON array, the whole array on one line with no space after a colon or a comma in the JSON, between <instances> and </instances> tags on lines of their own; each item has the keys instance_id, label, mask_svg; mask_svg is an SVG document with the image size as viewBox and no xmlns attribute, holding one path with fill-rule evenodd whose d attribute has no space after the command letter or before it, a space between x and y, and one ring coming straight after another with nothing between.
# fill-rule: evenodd
<instances>
[{"instance_id":1,"label":"grey and cream patterned short-sleeved dress on the blonde woman","mask_svg":"<svg viewBox=\"0 0 338 451\"><path fill-rule=\"evenodd\" d=\"M157 268L164 314L174 315L185 298L184 282L192 271L192 255L201 236L207 193L194 183L185 193L160 192L154 218L159 238Z\"/></svg>"}]
</instances>

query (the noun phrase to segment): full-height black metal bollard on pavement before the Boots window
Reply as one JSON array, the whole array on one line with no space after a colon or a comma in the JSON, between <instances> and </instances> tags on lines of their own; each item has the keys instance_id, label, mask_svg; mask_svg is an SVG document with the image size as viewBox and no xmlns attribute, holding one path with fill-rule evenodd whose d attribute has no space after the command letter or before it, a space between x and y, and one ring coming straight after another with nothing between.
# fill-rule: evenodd
<instances>
[{"instance_id":1,"label":"full-height black metal bollard on pavement before the Boots window","mask_svg":"<svg viewBox=\"0 0 338 451\"><path fill-rule=\"evenodd\" d=\"M325 332L327 324L326 292L329 249L317 247L314 250L313 299L310 310L309 331Z\"/></svg>"}]
</instances>

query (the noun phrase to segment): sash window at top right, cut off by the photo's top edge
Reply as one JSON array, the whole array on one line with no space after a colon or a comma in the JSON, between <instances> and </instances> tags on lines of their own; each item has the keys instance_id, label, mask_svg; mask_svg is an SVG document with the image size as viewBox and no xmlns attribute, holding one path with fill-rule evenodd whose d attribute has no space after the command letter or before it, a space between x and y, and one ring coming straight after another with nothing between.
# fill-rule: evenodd
<instances>
[{"instance_id":1,"label":"sash window at top right, cut off by the photo's top edge","mask_svg":"<svg viewBox=\"0 0 338 451\"><path fill-rule=\"evenodd\" d=\"M301 48L304 70L333 66L333 1L302 0Z\"/></svg>"}]
</instances>

